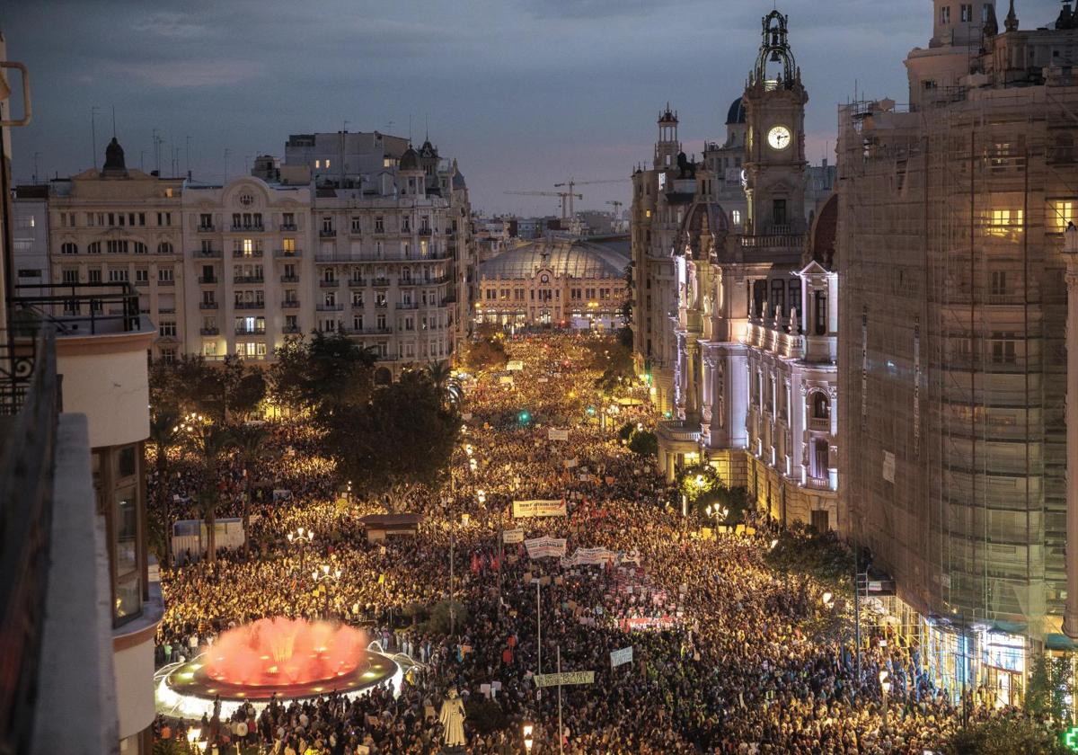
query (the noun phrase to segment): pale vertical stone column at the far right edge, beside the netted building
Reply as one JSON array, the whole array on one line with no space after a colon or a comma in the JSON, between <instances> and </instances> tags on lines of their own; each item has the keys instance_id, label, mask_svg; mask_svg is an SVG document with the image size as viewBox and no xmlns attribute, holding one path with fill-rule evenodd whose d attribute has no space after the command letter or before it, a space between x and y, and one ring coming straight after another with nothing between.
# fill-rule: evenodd
<instances>
[{"instance_id":1,"label":"pale vertical stone column at the far right edge, beside the netted building","mask_svg":"<svg viewBox=\"0 0 1078 755\"><path fill-rule=\"evenodd\" d=\"M1063 632L1078 637L1078 228L1063 234L1067 260L1067 605Z\"/></svg>"}]
</instances>

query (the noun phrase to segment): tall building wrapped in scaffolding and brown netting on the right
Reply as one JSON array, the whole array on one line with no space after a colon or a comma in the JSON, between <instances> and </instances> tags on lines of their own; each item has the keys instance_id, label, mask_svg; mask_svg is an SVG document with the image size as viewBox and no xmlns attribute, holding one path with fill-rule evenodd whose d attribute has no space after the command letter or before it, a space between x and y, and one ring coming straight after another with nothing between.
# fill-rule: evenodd
<instances>
[{"instance_id":1,"label":"tall building wrapped in scaffolding and brown netting on the right","mask_svg":"<svg viewBox=\"0 0 1078 755\"><path fill-rule=\"evenodd\" d=\"M937 680L1013 702L1029 651L1070 647L1078 598L1078 29L1064 6L1020 30L1013 3L1000 28L994 5L935 1L908 110L840 109L840 471Z\"/></svg>"}]
</instances>

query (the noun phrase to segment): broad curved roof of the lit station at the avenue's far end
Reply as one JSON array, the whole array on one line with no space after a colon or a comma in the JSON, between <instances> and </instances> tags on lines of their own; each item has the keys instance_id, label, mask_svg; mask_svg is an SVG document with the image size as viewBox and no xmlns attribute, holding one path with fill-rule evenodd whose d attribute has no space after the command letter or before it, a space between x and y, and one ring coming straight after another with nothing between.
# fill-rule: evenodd
<instances>
[{"instance_id":1,"label":"broad curved roof of the lit station at the avenue's far end","mask_svg":"<svg viewBox=\"0 0 1078 755\"><path fill-rule=\"evenodd\" d=\"M628 237L603 243L583 238L538 239L503 251L479 266L481 278L521 279L540 267L575 278L621 278L628 266Z\"/></svg>"}]
</instances>

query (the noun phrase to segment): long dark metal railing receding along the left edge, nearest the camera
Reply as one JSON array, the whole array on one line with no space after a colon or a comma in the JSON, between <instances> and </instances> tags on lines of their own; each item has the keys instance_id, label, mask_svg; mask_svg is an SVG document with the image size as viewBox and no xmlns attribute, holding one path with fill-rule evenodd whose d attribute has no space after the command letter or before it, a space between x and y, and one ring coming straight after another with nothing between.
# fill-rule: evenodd
<instances>
[{"instance_id":1,"label":"long dark metal railing receding along the left edge, nearest the camera","mask_svg":"<svg viewBox=\"0 0 1078 755\"><path fill-rule=\"evenodd\" d=\"M0 752L30 752L60 411L52 327L0 331Z\"/></svg>"}]
</instances>

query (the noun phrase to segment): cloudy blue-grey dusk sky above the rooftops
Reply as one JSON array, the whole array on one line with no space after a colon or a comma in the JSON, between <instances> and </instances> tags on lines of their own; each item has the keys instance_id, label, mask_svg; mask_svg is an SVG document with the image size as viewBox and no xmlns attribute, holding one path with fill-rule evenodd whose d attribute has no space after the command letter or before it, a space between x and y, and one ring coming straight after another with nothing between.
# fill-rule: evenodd
<instances>
[{"instance_id":1,"label":"cloudy blue-grey dusk sky above the rooftops","mask_svg":"<svg viewBox=\"0 0 1078 755\"><path fill-rule=\"evenodd\" d=\"M998 0L1006 13L1006 2ZM904 101L902 58L931 36L930 0L784 0L810 93L808 155L833 150L855 85ZM33 123L14 129L16 180L92 165L116 134L129 166L220 180L289 134L373 131L456 156L472 204L550 214L570 177L626 177L651 155L655 118L679 111L687 152L723 139L773 0L15 0L8 54L30 68ZM1055 0L1019 0L1023 28ZM188 145L190 143L190 153ZM100 159L99 159L100 160ZM583 207L628 183L582 188Z\"/></svg>"}]
</instances>

